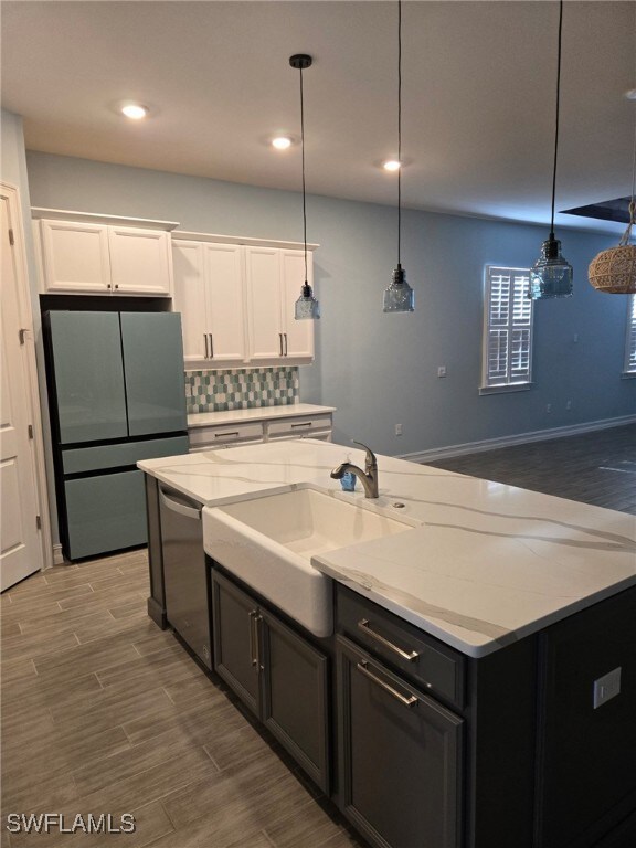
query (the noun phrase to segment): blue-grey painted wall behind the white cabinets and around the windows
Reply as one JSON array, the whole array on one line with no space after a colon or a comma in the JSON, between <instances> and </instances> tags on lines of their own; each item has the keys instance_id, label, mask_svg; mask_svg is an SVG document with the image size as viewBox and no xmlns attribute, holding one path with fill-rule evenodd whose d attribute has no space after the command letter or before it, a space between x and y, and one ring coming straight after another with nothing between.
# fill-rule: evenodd
<instances>
[{"instance_id":1,"label":"blue-grey painted wall behind the white cabinets and around the windows","mask_svg":"<svg viewBox=\"0 0 636 848\"><path fill-rule=\"evenodd\" d=\"M295 192L35 152L28 169L33 205L303 239ZM381 311L396 261L395 209L308 197L307 227L308 240L320 244L322 318L316 362L300 369L300 395L338 407L336 441L356 437L380 453L409 454L636 412L636 381L621 378L627 298L587 283L590 261L617 237L558 233L574 266L575 294L536 306L534 385L480 396L484 267L531 265L547 227L404 211L402 264L416 293L413 315ZM445 379L437 378L442 364ZM394 435L396 423L402 436Z\"/></svg>"}]
</instances>

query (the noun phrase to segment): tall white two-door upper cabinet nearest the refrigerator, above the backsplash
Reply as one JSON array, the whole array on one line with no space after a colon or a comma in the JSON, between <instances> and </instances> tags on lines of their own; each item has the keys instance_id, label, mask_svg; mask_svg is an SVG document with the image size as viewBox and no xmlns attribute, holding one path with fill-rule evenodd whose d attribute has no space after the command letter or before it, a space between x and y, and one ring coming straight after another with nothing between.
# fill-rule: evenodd
<instances>
[{"instance_id":1,"label":"tall white two-door upper cabinet nearest the refrigerator, above the backsplash","mask_svg":"<svg viewBox=\"0 0 636 848\"><path fill-rule=\"evenodd\" d=\"M176 241L174 309L181 312L187 368L245 360L242 248Z\"/></svg>"}]
</instances>

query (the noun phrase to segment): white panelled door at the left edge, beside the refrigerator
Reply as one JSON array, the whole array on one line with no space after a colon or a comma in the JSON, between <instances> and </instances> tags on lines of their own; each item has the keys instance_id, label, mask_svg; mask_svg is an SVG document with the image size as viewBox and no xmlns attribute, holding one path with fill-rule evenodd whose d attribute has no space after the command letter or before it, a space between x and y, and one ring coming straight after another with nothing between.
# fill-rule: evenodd
<instances>
[{"instance_id":1,"label":"white panelled door at the left edge, beside the refrigerator","mask_svg":"<svg viewBox=\"0 0 636 848\"><path fill-rule=\"evenodd\" d=\"M10 210L1 198L0 352L0 591L42 568L38 489L26 348L21 343L19 279L9 235Z\"/></svg>"}]
</instances>

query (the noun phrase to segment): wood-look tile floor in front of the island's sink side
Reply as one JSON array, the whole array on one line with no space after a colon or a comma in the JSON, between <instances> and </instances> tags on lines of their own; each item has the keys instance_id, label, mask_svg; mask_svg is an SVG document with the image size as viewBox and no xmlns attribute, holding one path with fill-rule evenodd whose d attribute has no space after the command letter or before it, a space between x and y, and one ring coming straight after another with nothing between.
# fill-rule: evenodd
<instances>
[{"instance_id":1,"label":"wood-look tile floor in front of the island's sink side","mask_svg":"<svg viewBox=\"0 0 636 848\"><path fill-rule=\"evenodd\" d=\"M56 566L1 596L1 848L350 848L171 632L146 551ZM9 834L10 813L135 816L135 834Z\"/></svg>"}]
</instances>

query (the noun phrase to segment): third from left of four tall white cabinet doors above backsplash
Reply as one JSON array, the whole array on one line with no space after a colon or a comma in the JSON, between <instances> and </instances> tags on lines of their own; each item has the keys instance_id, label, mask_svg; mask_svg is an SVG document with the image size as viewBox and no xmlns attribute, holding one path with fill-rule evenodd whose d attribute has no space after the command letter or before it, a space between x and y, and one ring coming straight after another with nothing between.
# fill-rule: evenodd
<instances>
[{"instance_id":1,"label":"third from left of four tall white cabinet doors above backsplash","mask_svg":"<svg viewBox=\"0 0 636 848\"><path fill-rule=\"evenodd\" d=\"M250 359L280 359L280 251L246 247L247 353Z\"/></svg>"}]
</instances>

